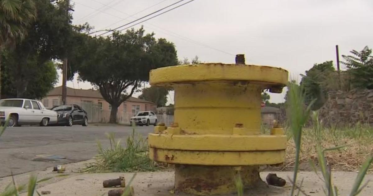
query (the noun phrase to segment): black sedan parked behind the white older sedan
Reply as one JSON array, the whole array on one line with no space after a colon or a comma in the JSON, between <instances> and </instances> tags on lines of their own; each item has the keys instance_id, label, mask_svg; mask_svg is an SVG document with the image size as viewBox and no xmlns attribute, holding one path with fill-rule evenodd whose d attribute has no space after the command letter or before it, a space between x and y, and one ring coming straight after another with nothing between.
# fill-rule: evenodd
<instances>
[{"instance_id":1,"label":"black sedan parked behind the white older sedan","mask_svg":"<svg viewBox=\"0 0 373 196\"><path fill-rule=\"evenodd\" d=\"M87 112L78 105L60 105L51 110L57 112L57 125L83 125L88 126Z\"/></svg>"}]
</instances>

